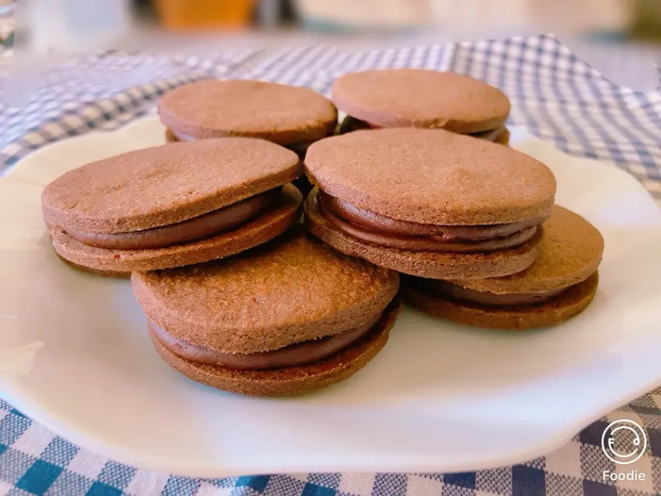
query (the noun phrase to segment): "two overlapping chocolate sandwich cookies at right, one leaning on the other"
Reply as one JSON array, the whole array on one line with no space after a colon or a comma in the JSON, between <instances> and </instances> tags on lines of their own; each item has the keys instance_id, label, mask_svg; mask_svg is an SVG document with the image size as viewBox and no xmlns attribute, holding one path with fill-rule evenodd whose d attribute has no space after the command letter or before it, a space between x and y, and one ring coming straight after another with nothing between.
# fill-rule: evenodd
<instances>
[{"instance_id":1,"label":"two overlapping chocolate sandwich cookies at right, one leaning on the other","mask_svg":"<svg viewBox=\"0 0 661 496\"><path fill-rule=\"evenodd\" d=\"M476 327L559 324L591 302L603 239L554 206L556 181L509 147L440 130L356 131L315 143L309 230L403 273L412 307Z\"/></svg>"}]
</instances>

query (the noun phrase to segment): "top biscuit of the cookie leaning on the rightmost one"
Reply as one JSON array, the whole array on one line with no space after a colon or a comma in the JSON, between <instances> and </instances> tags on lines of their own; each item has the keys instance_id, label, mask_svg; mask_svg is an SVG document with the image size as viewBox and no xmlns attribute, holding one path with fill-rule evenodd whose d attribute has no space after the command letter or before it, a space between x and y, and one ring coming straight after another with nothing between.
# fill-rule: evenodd
<instances>
[{"instance_id":1,"label":"top biscuit of the cookie leaning on the rightmost one","mask_svg":"<svg viewBox=\"0 0 661 496\"><path fill-rule=\"evenodd\" d=\"M306 173L324 192L382 216L434 225L545 214L556 180L503 145L443 130L355 131L313 143Z\"/></svg>"}]
</instances>

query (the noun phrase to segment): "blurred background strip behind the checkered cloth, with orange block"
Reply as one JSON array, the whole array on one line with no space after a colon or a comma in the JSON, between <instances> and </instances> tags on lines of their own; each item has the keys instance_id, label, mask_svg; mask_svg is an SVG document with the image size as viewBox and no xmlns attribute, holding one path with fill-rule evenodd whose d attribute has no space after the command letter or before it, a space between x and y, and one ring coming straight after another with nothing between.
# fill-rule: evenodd
<instances>
[{"instance_id":1,"label":"blurred background strip behind the checkered cloth, with orange block","mask_svg":"<svg viewBox=\"0 0 661 496\"><path fill-rule=\"evenodd\" d=\"M15 38L32 54L314 43L384 48L547 32L578 56L635 54L653 74L661 60L661 0L0 0L0 39L10 46ZM620 74L627 71L602 72L634 86Z\"/></svg>"}]
</instances>

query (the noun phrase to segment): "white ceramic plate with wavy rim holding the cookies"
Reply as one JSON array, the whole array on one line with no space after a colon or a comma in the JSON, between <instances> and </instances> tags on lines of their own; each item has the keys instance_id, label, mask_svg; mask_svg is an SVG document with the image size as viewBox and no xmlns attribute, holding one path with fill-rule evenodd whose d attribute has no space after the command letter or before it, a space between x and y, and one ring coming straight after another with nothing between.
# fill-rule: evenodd
<instances>
[{"instance_id":1,"label":"white ceramic plate with wavy rim holding the cookies","mask_svg":"<svg viewBox=\"0 0 661 496\"><path fill-rule=\"evenodd\" d=\"M661 213L616 167L514 130L558 178L558 204L606 240L600 289L555 329L483 331L407 309L350 380L284 400L184 378L151 347L127 281L56 258L43 185L158 145L155 117L41 149L0 179L0 395L76 444L196 477L308 471L472 471L522 462L661 384Z\"/></svg>"}]
</instances>

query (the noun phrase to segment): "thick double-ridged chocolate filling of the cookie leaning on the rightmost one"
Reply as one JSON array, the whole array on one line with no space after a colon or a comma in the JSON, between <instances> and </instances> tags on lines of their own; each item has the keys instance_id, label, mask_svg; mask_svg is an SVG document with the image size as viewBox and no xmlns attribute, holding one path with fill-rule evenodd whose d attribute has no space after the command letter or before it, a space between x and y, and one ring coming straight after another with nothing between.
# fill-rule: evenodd
<instances>
[{"instance_id":1,"label":"thick double-ridged chocolate filling of the cookie leaning on the rightmost one","mask_svg":"<svg viewBox=\"0 0 661 496\"><path fill-rule=\"evenodd\" d=\"M322 191L317 194L317 205L328 222L349 236L412 251L483 253L512 248L532 238L548 217L495 225L418 224L375 214Z\"/></svg>"}]
</instances>

